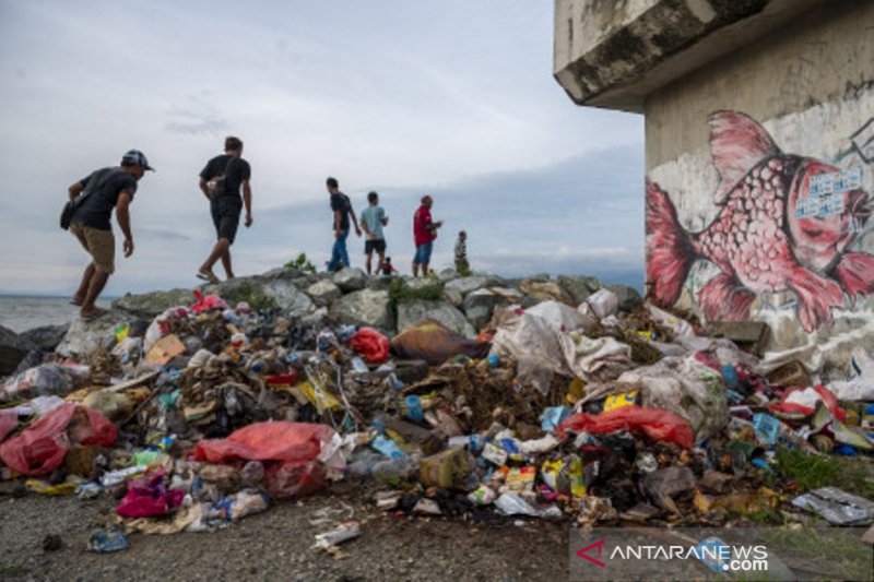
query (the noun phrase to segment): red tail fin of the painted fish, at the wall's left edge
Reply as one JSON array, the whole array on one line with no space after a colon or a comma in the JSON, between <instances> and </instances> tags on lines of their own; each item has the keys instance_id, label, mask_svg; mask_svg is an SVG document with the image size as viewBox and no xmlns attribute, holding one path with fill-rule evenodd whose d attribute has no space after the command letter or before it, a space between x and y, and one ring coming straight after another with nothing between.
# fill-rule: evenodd
<instances>
[{"instance_id":1,"label":"red tail fin of the painted fish, at the wall's left edge","mask_svg":"<svg viewBox=\"0 0 874 582\"><path fill-rule=\"evenodd\" d=\"M680 298L695 251L668 193L649 178L646 221L647 293L657 304L670 306Z\"/></svg>"}]
</instances>

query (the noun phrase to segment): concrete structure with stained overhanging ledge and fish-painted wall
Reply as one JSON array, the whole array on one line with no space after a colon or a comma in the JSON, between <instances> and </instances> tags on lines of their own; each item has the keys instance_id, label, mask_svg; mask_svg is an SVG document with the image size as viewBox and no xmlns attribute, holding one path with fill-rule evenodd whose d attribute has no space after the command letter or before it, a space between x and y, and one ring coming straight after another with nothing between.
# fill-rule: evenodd
<instances>
[{"instance_id":1,"label":"concrete structure with stained overhanging ledge and fish-painted wall","mask_svg":"<svg viewBox=\"0 0 874 582\"><path fill-rule=\"evenodd\" d=\"M575 103L646 116L653 299L874 345L874 1L556 0L554 50Z\"/></svg>"}]
</instances>

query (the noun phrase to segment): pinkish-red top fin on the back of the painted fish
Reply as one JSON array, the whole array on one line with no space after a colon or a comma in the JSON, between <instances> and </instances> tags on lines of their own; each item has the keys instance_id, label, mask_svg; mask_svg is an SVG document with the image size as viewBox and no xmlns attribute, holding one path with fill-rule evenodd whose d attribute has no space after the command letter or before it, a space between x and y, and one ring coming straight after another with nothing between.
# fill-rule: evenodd
<instances>
[{"instance_id":1,"label":"pinkish-red top fin on the back of the painted fish","mask_svg":"<svg viewBox=\"0 0 874 582\"><path fill-rule=\"evenodd\" d=\"M717 111L710 116L710 155L720 182L713 198L724 202L737 182L766 157L780 149L753 118L737 111Z\"/></svg>"}]
</instances>

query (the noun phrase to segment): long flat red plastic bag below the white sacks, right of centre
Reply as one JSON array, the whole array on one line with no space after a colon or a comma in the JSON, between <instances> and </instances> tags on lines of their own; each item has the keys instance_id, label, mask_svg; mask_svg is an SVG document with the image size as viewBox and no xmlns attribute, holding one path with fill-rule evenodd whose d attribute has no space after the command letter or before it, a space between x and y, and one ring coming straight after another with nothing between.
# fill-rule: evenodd
<instances>
[{"instance_id":1,"label":"long flat red plastic bag below the white sacks, right of centre","mask_svg":"<svg viewBox=\"0 0 874 582\"><path fill-rule=\"evenodd\" d=\"M565 419L556 432L564 438L568 430L603 435L617 430L640 431L650 440L673 442L684 449L692 449L692 426L674 413L662 408L623 406L613 411L593 414L575 414Z\"/></svg>"}]
</instances>

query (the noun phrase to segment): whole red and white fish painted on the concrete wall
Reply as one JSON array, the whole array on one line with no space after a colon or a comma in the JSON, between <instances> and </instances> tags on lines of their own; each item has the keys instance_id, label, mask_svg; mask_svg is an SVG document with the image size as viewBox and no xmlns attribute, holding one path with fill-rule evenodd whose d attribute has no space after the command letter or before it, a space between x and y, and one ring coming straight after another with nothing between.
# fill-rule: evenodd
<instances>
[{"instance_id":1,"label":"whole red and white fish painted on the concrete wall","mask_svg":"<svg viewBox=\"0 0 874 582\"><path fill-rule=\"evenodd\" d=\"M791 290L811 332L845 296L874 292L874 257L848 250L874 210L861 168L784 154L741 112L718 111L709 124L721 210L704 230L684 229L668 193L647 178L650 296L675 304L693 263L705 259L720 271L695 295L708 321L747 320L757 294Z\"/></svg>"}]
</instances>

